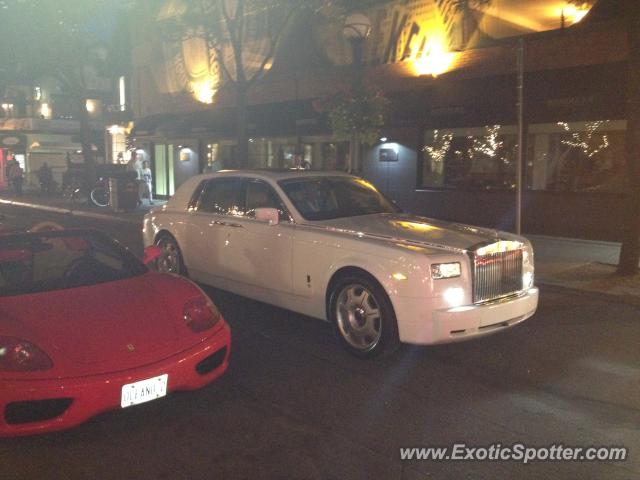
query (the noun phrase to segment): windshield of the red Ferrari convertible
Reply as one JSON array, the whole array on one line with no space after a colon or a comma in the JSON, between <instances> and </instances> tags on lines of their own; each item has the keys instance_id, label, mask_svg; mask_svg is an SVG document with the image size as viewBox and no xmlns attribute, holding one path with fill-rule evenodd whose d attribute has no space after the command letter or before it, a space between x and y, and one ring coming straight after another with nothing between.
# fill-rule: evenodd
<instances>
[{"instance_id":1,"label":"windshield of the red Ferrari convertible","mask_svg":"<svg viewBox=\"0 0 640 480\"><path fill-rule=\"evenodd\" d=\"M147 268L98 232L0 236L0 296L64 290L134 277Z\"/></svg>"}]
</instances>

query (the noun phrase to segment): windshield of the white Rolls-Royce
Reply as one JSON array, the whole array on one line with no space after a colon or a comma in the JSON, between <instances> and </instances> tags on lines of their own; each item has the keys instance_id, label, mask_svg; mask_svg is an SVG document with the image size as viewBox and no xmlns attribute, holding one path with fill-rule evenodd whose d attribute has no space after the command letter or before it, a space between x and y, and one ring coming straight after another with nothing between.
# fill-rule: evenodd
<instances>
[{"instance_id":1,"label":"windshield of the white Rolls-Royce","mask_svg":"<svg viewBox=\"0 0 640 480\"><path fill-rule=\"evenodd\" d=\"M310 177L283 180L280 186L305 220L332 220L400 209L366 180Z\"/></svg>"}]
</instances>

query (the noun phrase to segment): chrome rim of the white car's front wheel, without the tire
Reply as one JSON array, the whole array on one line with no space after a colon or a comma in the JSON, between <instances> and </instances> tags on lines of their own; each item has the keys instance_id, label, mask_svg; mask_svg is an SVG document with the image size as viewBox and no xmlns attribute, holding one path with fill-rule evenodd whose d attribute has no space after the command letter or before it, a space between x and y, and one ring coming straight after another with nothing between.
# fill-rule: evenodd
<instances>
[{"instance_id":1,"label":"chrome rim of the white car's front wheel, without the tire","mask_svg":"<svg viewBox=\"0 0 640 480\"><path fill-rule=\"evenodd\" d=\"M364 285L344 287L336 301L336 319L342 338L358 350L371 350L382 335L382 312L375 295Z\"/></svg>"}]
</instances>

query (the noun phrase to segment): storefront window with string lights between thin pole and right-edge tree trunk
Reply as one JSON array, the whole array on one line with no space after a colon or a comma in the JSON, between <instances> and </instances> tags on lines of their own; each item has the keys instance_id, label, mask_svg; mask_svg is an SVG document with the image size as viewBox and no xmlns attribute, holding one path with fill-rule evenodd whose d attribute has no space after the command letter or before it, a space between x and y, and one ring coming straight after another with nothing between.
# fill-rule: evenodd
<instances>
[{"instance_id":1,"label":"storefront window with string lights between thin pole and right-edge tree trunk","mask_svg":"<svg viewBox=\"0 0 640 480\"><path fill-rule=\"evenodd\" d=\"M619 192L624 188L623 120L529 126L527 187L553 192Z\"/></svg>"}]
</instances>

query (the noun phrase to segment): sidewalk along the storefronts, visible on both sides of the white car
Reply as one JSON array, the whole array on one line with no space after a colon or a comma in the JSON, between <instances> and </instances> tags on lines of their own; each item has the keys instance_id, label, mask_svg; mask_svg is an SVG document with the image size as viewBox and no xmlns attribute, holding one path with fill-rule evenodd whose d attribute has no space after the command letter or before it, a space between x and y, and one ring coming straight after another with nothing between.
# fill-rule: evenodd
<instances>
[{"instance_id":1,"label":"sidewalk along the storefronts, visible on both sides of the white car","mask_svg":"<svg viewBox=\"0 0 640 480\"><path fill-rule=\"evenodd\" d=\"M152 208L166 202L147 202L133 212L113 212L108 208L69 205L58 197L25 194L21 197L2 192L0 205L36 208L98 220L140 225ZM533 243L536 283L584 292L616 296L620 301L640 306L640 275L619 277L616 273L620 244L543 235L526 235Z\"/></svg>"}]
</instances>

